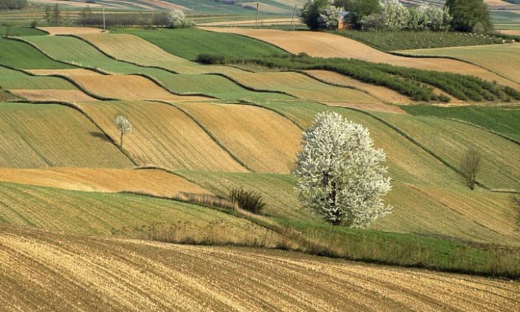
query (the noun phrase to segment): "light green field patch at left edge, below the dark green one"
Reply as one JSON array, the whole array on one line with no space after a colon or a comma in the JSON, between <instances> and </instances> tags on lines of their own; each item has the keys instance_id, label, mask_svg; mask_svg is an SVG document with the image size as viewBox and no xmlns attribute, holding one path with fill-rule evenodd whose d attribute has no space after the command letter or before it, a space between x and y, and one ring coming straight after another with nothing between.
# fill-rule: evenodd
<instances>
[{"instance_id":1,"label":"light green field patch at left edge, below the dark green one","mask_svg":"<svg viewBox=\"0 0 520 312\"><path fill-rule=\"evenodd\" d=\"M3 89L77 89L69 81L57 77L34 77L21 71L0 66L0 87Z\"/></svg>"}]
</instances>

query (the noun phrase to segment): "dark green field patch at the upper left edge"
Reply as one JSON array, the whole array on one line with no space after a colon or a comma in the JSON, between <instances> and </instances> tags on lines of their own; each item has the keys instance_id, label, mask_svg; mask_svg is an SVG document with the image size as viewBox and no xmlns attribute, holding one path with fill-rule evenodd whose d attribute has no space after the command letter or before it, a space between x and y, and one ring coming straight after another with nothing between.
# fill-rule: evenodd
<instances>
[{"instance_id":1,"label":"dark green field patch at the upper left edge","mask_svg":"<svg viewBox=\"0 0 520 312\"><path fill-rule=\"evenodd\" d=\"M0 38L0 64L18 69L69 69L71 65L56 62L31 44Z\"/></svg>"}]
</instances>

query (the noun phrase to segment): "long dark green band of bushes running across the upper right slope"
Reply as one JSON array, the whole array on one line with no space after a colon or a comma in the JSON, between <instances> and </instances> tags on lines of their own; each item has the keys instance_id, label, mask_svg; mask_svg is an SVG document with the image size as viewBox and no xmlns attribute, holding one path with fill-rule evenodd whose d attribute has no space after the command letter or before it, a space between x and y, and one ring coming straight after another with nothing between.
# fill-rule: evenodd
<instances>
[{"instance_id":1,"label":"long dark green band of bushes running across the upper right slope","mask_svg":"<svg viewBox=\"0 0 520 312\"><path fill-rule=\"evenodd\" d=\"M449 101L449 97L433 93L430 86L442 89L462 101L520 100L520 92L474 76L441 73L388 64L344 58L313 58L301 53L291 56L263 58L226 58L221 55L199 55L205 64L255 64L276 69L336 71L365 83L388 87L415 101Z\"/></svg>"}]
</instances>

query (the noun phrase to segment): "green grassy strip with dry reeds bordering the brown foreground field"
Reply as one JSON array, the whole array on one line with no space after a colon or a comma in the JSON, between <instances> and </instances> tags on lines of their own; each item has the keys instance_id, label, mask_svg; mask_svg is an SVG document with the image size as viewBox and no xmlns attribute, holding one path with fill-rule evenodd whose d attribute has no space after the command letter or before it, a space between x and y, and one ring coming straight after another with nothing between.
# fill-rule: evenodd
<instances>
[{"instance_id":1,"label":"green grassy strip with dry reeds bordering the brown foreground field","mask_svg":"<svg viewBox=\"0 0 520 312\"><path fill-rule=\"evenodd\" d=\"M301 232L311 242L313 254L395 266L520 277L520 250L515 248L293 220L279 222Z\"/></svg>"}]
</instances>

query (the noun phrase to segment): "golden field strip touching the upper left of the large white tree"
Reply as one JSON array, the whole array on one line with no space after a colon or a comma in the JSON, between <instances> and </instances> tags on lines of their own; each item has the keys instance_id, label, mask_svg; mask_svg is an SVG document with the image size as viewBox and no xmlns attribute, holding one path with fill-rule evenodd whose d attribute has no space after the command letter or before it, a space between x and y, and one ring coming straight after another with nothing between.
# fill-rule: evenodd
<instances>
[{"instance_id":1,"label":"golden field strip touching the upper left of the large white tree","mask_svg":"<svg viewBox=\"0 0 520 312\"><path fill-rule=\"evenodd\" d=\"M300 150L302 130L284 116L250 105L177 105L253 171L291 171Z\"/></svg>"}]
</instances>

